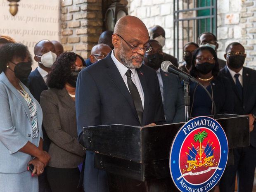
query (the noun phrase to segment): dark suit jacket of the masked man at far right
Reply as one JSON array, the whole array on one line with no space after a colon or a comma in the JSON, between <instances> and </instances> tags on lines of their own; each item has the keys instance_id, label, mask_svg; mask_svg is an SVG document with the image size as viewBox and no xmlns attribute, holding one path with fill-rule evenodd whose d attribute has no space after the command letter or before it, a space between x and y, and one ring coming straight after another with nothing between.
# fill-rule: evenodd
<instances>
[{"instance_id":1,"label":"dark suit jacket of the masked man at far right","mask_svg":"<svg viewBox=\"0 0 256 192\"><path fill-rule=\"evenodd\" d=\"M228 71L227 66L220 71L220 75L230 79L231 87L234 90L234 112L236 114L256 115L256 71L243 67L243 99L239 97L235 82ZM256 126L256 123L254 123ZM256 147L256 128L250 133L250 143Z\"/></svg>"}]
</instances>

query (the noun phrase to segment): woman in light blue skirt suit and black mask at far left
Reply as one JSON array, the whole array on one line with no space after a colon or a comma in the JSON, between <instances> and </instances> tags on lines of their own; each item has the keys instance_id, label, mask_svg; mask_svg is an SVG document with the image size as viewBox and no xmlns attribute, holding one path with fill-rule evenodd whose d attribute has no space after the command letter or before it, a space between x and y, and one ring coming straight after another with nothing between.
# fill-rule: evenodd
<instances>
[{"instance_id":1,"label":"woman in light blue skirt suit and black mask at far left","mask_svg":"<svg viewBox=\"0 0 256 192\"><path fill-rule=\"evenodd\" d=\"M0 192L38 192L38 175L50 160L43 151L41 107L20 81L31 64L25 45L0 48Z\"/></svg>"}]
</instances>

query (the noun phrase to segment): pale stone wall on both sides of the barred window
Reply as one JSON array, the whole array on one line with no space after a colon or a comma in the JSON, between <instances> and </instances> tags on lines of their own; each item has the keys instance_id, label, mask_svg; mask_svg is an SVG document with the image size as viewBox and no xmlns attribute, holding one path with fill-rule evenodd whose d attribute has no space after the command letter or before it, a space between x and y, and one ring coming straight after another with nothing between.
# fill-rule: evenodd
<instances>
[{"instance_id":1,"label":"pale stone wall on both sides of the barred window","mask_svg":"<svg viewBox=\"0 0 256 192\"><path fill-rule=\"evenodd\" d=\"M227 45L238 41L246 49L246 65L256 68L256 0L218 0L217 5L218 57L223 59ZM147 28L164 27L164 51L173 54L173 0L128 0L128 12L142 19Z\"/></svg>"}]
</instances>

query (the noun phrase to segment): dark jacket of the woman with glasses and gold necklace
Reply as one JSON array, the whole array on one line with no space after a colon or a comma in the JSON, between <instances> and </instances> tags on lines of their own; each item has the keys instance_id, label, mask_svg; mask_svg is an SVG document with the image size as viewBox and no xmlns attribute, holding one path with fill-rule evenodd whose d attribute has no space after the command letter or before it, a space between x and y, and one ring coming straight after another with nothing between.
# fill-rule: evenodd
<instances>
[{"instance_id":1,"label":"dark jacket of the woman with glasses and gold necklace","mask_svg":"<svg viewBox=\"0 0 256 192\"><path fill-rule=\"evenodd\" d=\"M233 114L234 94L228 78L217 76L213 79L213 81L211 81L211 85L213 89L213 101L215 102L217 108L216 114ZM194 89L196 86L196 83L190 83L190 105L193 103ZM191 106L190 110L193 110L192 107L193 106Z\"/></svg>"}]
</instances>

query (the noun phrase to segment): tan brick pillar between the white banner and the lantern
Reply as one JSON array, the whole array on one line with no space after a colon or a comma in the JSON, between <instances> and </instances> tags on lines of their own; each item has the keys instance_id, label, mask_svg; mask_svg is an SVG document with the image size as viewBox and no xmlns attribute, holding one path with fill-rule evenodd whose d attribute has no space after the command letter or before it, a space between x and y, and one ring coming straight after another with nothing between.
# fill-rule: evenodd
<instances>
[{"instance_id":1,"label":"tan brick pillar between the white banner and the lantern","mask_svg":"<svg viewBox=\"0 0 256 192\"><path fill-rule=\"evenodd\" d=\"M87 59L102 33L102 0L63 0L61 43Z\"/></svg>"}]
</instances>

